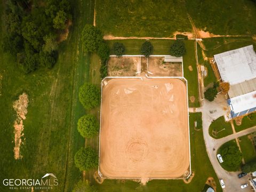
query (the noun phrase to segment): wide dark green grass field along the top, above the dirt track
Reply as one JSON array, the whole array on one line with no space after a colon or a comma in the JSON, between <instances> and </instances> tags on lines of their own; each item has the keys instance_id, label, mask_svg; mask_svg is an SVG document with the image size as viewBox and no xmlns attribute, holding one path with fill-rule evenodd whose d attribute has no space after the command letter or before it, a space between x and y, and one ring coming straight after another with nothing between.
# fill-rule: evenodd
<instances>
[{"instance_id":1,"label":"wide dark green grass field along the top, above the dirt track","mask_svg":"<svg viewBox=\"0 0 256 192\"><path fill-rule=\"evenodd\" d=\"M217 35L256 34L256 6L250 0L96 1L96 23L114 36L170 37L197 28Z\"/></svg>"}]
</instances>

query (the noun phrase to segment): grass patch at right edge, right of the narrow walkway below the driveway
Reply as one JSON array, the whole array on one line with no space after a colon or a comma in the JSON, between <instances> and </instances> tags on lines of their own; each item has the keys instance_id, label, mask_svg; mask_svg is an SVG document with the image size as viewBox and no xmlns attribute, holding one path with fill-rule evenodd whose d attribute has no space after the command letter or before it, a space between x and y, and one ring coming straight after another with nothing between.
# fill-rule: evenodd
<instances>
[{"instance_id":1,"label":"grass patch at right edge, right of the narrow walkway below the driveway","mask_svg":"<svg viewBox=\"0 0 256 192\"><path fill-rule=\"evenodd\" d=\"M252 135L249 134L239 137L239 145L241 147L245 163L256 160L255 148L252 141L249 139L250 136Z\"/></svg>"}]
</instances>

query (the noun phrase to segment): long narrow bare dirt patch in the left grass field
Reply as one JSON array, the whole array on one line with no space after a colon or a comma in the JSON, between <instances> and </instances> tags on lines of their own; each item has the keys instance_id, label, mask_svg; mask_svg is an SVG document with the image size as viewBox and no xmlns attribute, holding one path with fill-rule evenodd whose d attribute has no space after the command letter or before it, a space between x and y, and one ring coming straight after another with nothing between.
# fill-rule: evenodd
<instances>
[{"instance_id":1,"label":"long narrow bare dirt patch in the left grass field","mask_svg":"<svg viewBox=\"0 0 256 192\"><path fill-rule=\"evenodd\" d=\"M14 158L20 159L22 155L20 155L20 146L22 144L21 137L23 137L23 120L26 119L26 115L28 107L28 95L23 93L19 96L19 99L13 102L13 109L17 113L17 119L14 121Z\"/></svg>"}]
</instances>

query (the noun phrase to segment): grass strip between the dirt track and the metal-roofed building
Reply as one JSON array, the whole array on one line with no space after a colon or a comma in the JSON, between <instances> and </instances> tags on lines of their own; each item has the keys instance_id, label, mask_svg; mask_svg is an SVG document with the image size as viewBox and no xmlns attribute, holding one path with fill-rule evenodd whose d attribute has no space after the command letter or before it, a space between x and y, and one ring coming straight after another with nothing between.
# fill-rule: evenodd
<instances>
[{"instance_id":1,"label":"grass strip between the dirt track and the metal-roofed building","mask_svg":"<svg viewBox=\"0 0 256 192\"><path fill-rule=\"evenodd\" d=\"M256 41L252 37L213 37L203 40L207 57L213 57L214 54L223 53L238 49L247 45L256 46Z\"/></svg>"}]
</instances>

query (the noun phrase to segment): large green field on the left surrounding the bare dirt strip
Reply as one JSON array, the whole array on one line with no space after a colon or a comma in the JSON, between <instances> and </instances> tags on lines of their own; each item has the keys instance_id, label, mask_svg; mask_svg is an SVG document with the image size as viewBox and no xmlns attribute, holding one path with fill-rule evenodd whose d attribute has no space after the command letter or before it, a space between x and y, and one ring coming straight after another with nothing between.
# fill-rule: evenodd
<instances>
[{"instance_id":1,"label":"large green field on the left surrounding the bare dirt strip","mask_svg":"<svg viewBox=\"0 0 256 192\"><path fill-rule=\"evenodd\" d=\"M78 101L78 89L89 81L90 58L79 54L82 52L80 34L85 23L93 22L94 1L75 1L72 4L73 26L67 41L60 45L58 62L53 69L39 69L24 75L15 59L0 48L0 74L3 75L1 180L40 179L45 173L53 173L59 186L52 191L71 191L81 178L81 172L74 165L76 151L84 146L84 139L76 129L77 119L85 113ZM2 13L3 2L0 6ZM2 26L0 35L2 41ZM23 158L14 160L13 122L16 116L12 103L22 92L26 92L29 99L23 131L26 140L21 148ZM1 185L0 190L9 191L9 188Z\"/></svg>"}]
</instances>

